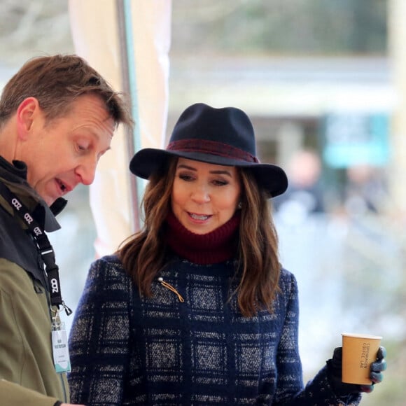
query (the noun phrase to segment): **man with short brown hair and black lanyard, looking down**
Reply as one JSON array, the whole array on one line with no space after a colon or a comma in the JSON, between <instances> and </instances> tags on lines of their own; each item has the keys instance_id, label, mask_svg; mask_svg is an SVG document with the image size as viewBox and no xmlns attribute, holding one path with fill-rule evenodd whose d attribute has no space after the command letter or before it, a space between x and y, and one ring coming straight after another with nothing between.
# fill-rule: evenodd
<instances>
[{"instance_id":1,"label":"man with short brown hair and black lanyard, looking down","mask_svg":"<svg viewBox=\"0 0 406 406\"><path fill-rule=\"evenodd\" d=\"M0 99L0 403L69 403L65 306L46 232L59 228L62 196L90 185L123 100L76 55L38 57Z\"/></svg>"}]
</instances>

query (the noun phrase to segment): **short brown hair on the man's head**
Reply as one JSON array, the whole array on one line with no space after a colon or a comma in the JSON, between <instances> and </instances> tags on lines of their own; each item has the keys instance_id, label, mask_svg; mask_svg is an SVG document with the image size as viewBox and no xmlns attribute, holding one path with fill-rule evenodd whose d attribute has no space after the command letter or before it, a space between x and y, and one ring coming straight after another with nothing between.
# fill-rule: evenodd
<instances>
[{"instance_id":1,"label":"short brown hair on the man's head","mask_svg":"<svg viewBox=\"0 0 406 406\"><path fill-rule=\"evenodd\" d=\"M77 55L52 55L29 59L3 87L0 125L17 111L27 97L35 97L46 120L69 112L72 102L84 94L102 99L116 126L132 125L130 113L119 92Z\"/></svg>"}]
</instances>

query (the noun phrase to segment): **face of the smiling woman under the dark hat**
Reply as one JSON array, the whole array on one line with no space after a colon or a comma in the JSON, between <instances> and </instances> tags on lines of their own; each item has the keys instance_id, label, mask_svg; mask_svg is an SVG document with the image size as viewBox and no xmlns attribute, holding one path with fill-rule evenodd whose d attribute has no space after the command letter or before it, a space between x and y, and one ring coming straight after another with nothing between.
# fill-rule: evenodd
<instances>
[{"instance_id":1,"label":"face of the smiling woman under the dark hat","mask_svg":"<svg viewBox=\"0 0 406 406\"><path fill-rule=\"evenodd\" d=\"M232 218L240 193L236 167L179 158L172 186L172 211L189 231L207 234Z\"/></svg>"}]
</instances>

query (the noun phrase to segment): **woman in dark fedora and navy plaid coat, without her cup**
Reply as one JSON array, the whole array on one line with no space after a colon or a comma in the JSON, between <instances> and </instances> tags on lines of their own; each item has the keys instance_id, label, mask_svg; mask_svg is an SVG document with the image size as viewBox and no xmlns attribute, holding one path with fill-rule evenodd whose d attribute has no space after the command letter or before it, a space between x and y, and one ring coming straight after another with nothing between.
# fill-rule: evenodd
<instances>
[{"instance_id":1,"label":"woman in dark fedora and navy plaid coat, without her cup","mask_svg":"<svg viewBox=\"0 0 406 406\"><path fill-rule=\"evenodd\" d=\"M303 388L297 286L268 201L288 183L255 155L246 114L206 104L183 112L165 151L134 155L145 223L90 268L70 337L75 402L357 405L371 390L341 384L340 349Z\"/></svg>"}]
</instances>

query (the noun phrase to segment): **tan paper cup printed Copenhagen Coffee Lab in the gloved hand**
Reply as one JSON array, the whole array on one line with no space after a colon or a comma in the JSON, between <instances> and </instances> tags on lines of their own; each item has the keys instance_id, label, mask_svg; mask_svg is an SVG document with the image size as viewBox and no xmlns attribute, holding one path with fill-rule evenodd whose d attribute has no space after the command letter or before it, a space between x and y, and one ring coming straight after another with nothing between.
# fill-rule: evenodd
<instances>
[{"instance_id":1,"label":"tan paper cup printed Copenhagen Coffee Lab in the gloved hand","mask_svg":"<svg viewBox=\"0 0 406 406\"><path fill-rule=\"evenodd\" d=\"M342 333L342 381L346 384L370 385L370 367L377 360L382 337Z\"/></svg>"}]
</instances>

